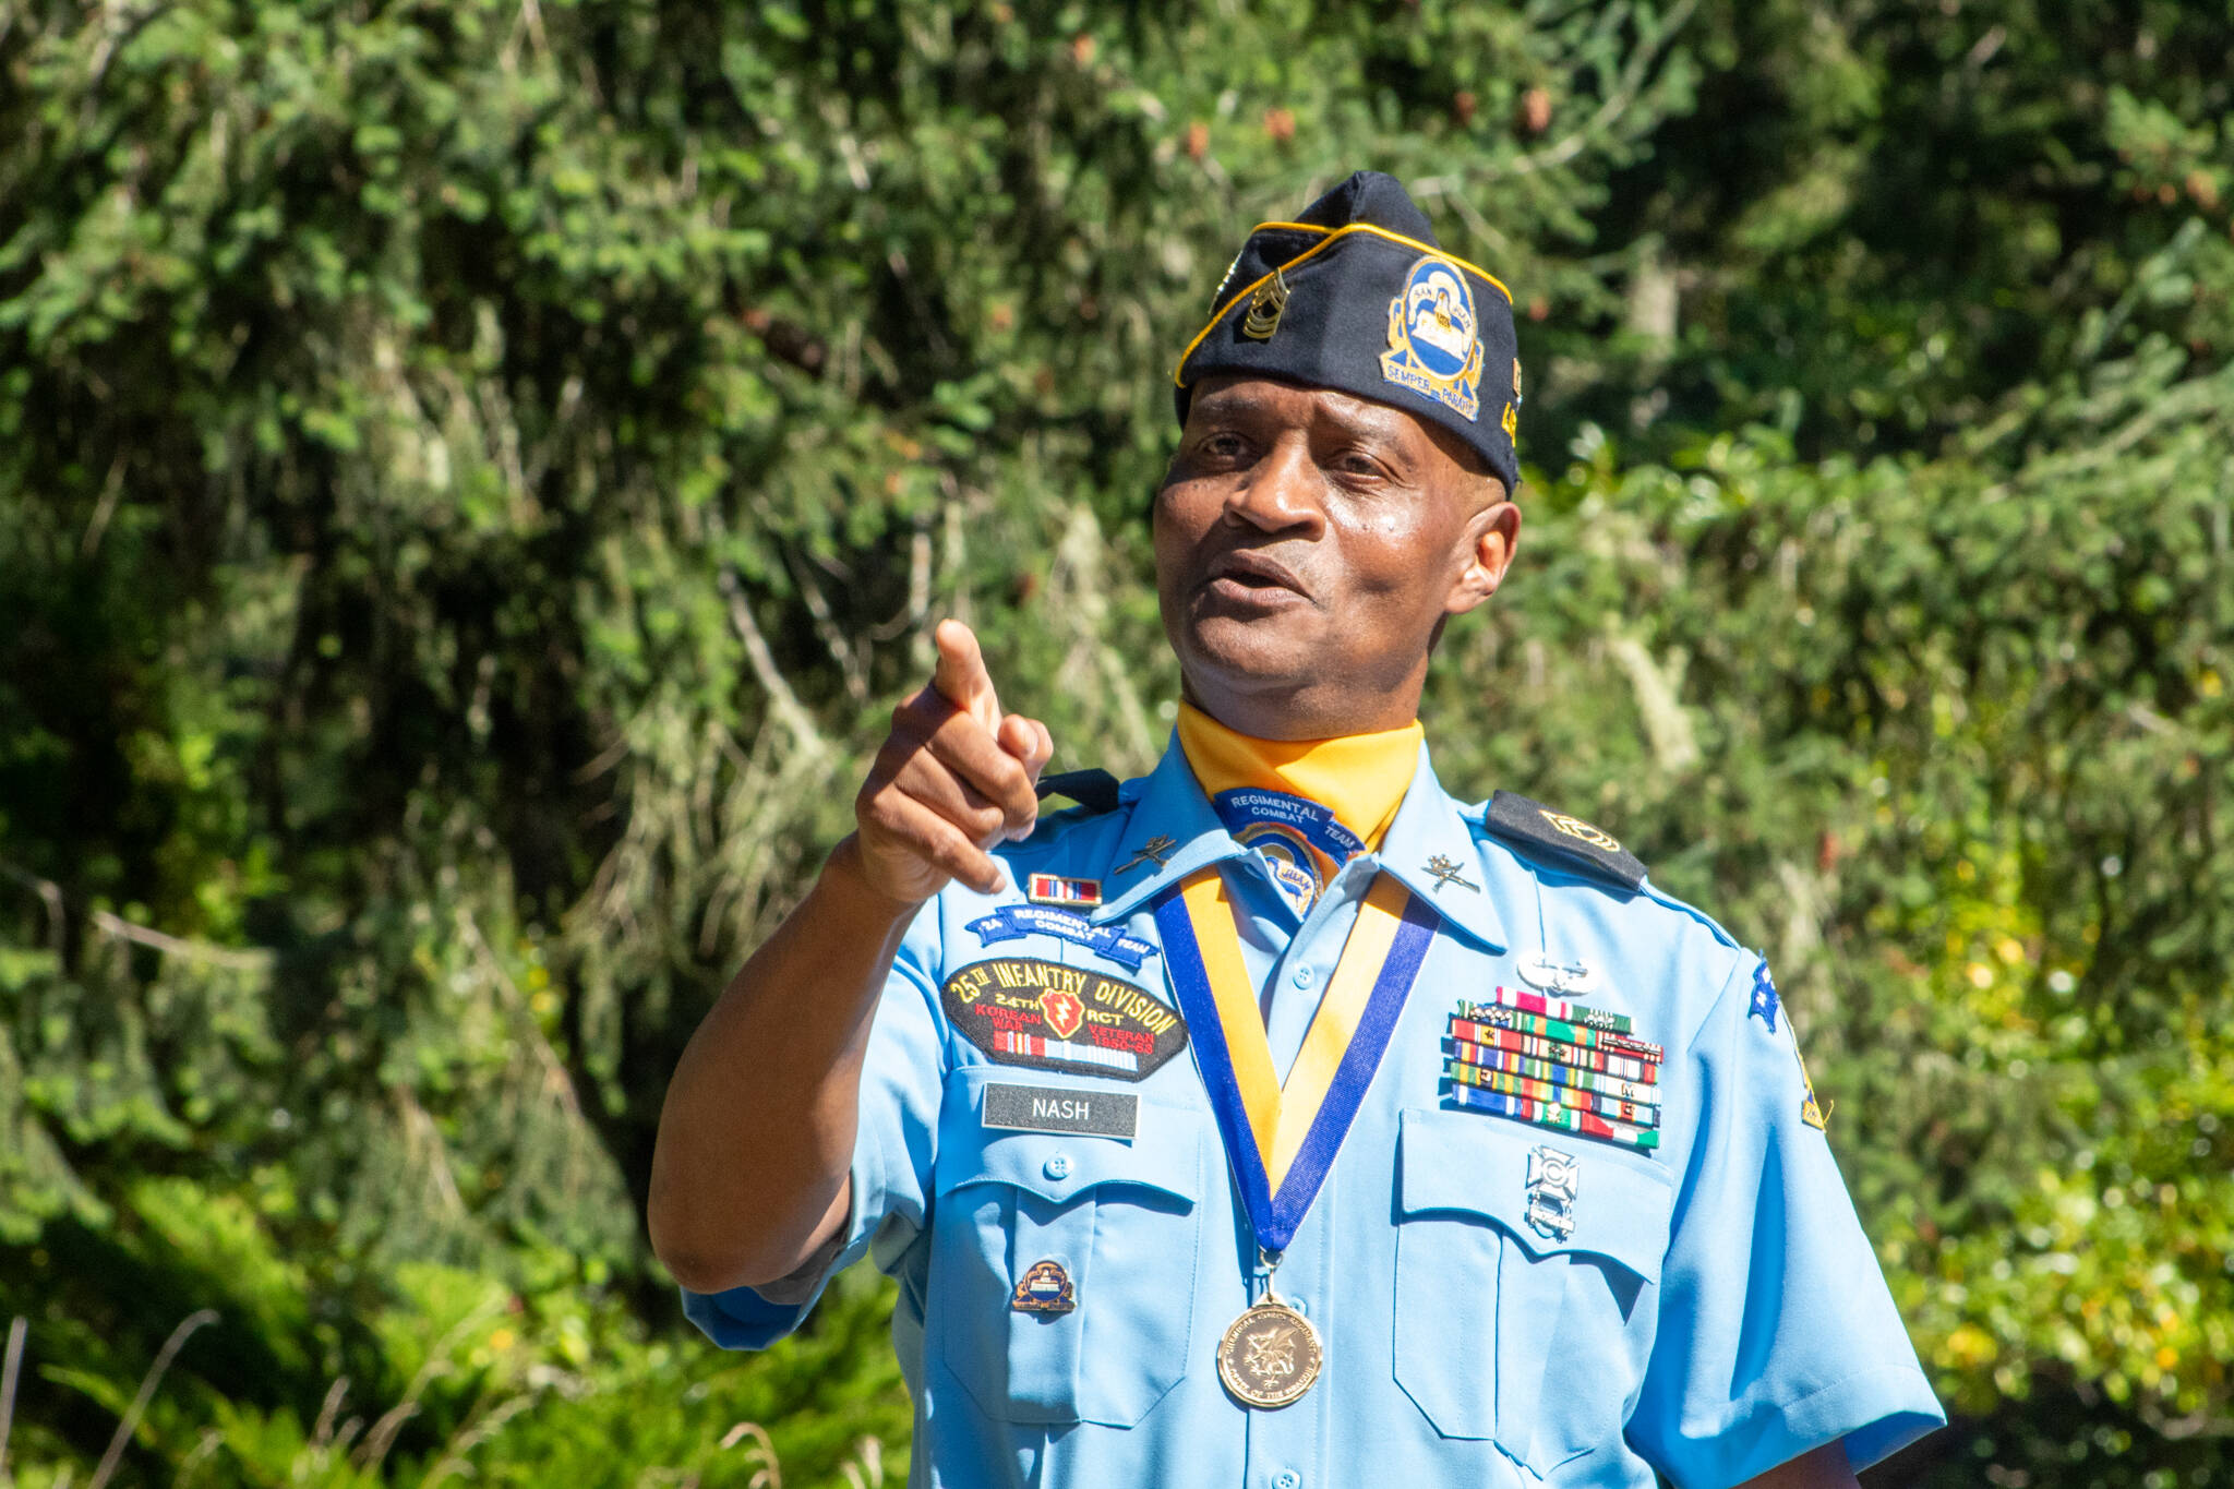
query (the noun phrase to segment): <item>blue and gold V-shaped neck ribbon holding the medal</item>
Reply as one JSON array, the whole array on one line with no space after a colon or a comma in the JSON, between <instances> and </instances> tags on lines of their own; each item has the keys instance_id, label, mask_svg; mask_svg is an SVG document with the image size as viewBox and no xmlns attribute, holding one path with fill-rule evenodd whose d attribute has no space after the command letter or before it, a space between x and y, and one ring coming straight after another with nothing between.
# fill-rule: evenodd
<instances>
[{"instance_id":1,"label":"blue and gold V-shaped neck ribbon holding the medal","mask_svg":"<svg viewBox=\"0 0 2234 1489\"><path fill-rule=\"evenodd\" d=\"M1398 880L1374 880L1287 1083L1273 1078L1264 1016L1218 866L1166 888L1155 924L1249 1223L1258 1246L1282 1252L1381 1069L1434 942L1432 911Z\"/></svg>"}]
</instances>

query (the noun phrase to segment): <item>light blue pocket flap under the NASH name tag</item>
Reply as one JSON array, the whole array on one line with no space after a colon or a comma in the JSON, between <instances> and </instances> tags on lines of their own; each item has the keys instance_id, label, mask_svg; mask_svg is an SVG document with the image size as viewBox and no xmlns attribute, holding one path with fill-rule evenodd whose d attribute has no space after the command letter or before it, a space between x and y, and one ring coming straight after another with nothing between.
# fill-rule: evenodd
<instances>
[{"instance_id":1,"label":"light blue pocket flap under the NASH name tag","mask_svg":"<svg viewBox=\"0 0 2234 1489\"><path fill-rule=\"evenodd\" d=\"M1016 1076L1014 1069L996 1072L1005 1083L1019 1083ZM1077 1083L1068 1085L1075 1089ZM947 1087L938 1118L934 1192L1008 1183L1061 1203L1097 1185L1126 1183L1193 1205L1202 1197L1204 1123L1202 1112L1144 1098L1130 1141L1090 1132L987 1127L985 1083L956 1083Z\"/></svg>"}]
</instances>

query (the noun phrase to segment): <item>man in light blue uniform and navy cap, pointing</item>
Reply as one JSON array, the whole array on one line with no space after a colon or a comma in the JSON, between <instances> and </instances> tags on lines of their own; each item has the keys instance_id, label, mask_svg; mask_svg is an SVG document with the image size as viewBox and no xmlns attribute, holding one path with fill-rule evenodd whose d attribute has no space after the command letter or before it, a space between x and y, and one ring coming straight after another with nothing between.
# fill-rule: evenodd
<instances>
[{"instance_id":1,"label":"man in light blue uniform and navy cap, pointing","mask_svg":"<svg viewBox=\"0 0 2234 1489\"><path fill-rule=\"evenodd\" d=\"M909 1482L1814 1489L1941 1420L1760 958L1428 761L1519 382L1390 176L1256 228L1177 371L1162 763L1039 817L1052 739L945 623L686 1051L690 1317L764 1346L873 1255Z\"/></svg>"}]
</instances>

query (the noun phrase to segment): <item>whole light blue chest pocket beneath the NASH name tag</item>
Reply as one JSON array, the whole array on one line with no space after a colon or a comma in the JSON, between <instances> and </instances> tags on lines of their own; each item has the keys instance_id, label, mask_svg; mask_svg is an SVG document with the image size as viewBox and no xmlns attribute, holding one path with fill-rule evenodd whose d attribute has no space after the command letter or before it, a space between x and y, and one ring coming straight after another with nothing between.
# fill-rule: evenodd
<instances>
[{"instance_id":1,"label":"whole light blue chest pocket beneath the NASH name tag","mask_svg":"<svg viewBox=\"0 0 2234 1489\"><path fill-rule=\"evenodd\" d=\"M1193 1353L1204 1118L1142 1098L1133 1141L1008 1132L983 1125L985 1078L1052 1085L1012 1067L956 1072L934 1170L927 1331L994 1420L1133 1426ZM1063 1268L1070 1313L1012 1306L1039 1261Z\"/></svg>"}]
</instances>

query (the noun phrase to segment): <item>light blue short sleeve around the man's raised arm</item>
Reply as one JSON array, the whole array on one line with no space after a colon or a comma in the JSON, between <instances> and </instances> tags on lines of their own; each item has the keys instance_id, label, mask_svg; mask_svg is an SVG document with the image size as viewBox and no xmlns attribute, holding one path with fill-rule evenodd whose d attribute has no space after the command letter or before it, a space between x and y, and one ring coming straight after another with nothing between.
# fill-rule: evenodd
<instances>
[{"instance_id":1,"label":"light blue short sleeve around the man's raised arm","mask_svg":"<svg viewBox=\"0 0 2234 1489\"><path fill-rule=\"evenodd\" d=\"M766 1288L693 1293L684 1317L722 1348L766 1348L798 1328L829 1279L876 1257L891 1266L914 1243L929 1214L938 1103L947 1076L945 1022L938 1014L938 902L923 906L891 960L862 1056L853 1132L851 1210L840 1243L800 1272Z\"/></svg>"}]
</instances>

